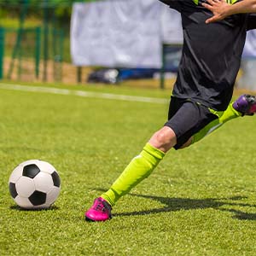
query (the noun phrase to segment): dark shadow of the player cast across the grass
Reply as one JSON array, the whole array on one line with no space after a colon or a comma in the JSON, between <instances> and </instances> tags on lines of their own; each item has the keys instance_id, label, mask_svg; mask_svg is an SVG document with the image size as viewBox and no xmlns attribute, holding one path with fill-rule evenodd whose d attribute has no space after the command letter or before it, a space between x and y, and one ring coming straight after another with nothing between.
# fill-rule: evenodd
<instances>
[{"instance_id":1,"label":"dark shadow of the player cast across the grass","mask_svg":"<svg viewBox=\"0 0 256 256\"><path fill-rule=\"evenodd\" d=\"M97 189L106 191L103 189ZM212 208L222 212L233 213L232 218L240 220L256 220L256 213L241 212L235 209L224 207L256 207L256 205L241 203L239 200L246 199L246 196L234 196L229 198L205 198L205 199L190 199L190 198L169 198L154 195L137 195L129 194L131 196L143 197L149 200L159 201L164 204L164 207L150 209L147 211L136 212L123 212L115 213L113 216L133 216L133 215L148 215L160 212L177 212L181 210L193 210L193 209L207 209Z\"/></svg>"}]
</instances>

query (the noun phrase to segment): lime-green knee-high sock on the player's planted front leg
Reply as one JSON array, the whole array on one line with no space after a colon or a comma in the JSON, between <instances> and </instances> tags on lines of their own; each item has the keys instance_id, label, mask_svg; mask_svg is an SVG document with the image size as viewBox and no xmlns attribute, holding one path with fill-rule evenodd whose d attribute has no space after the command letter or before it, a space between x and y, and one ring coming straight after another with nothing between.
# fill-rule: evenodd
<instances>
[{"instance_id":1,"label":"lime-green knee-high sock on the player's planted front leg","mask_svg":"<svg viewBox=\"0 0 256 256\"><path fill-rule=\"evenodd\" d=\"M147 143L143 151L131 160L124 172L101 197L113 206L121 196L129 193L137 183L148 177L164 156L164 152Z\"/></svg>"}]
</instances>

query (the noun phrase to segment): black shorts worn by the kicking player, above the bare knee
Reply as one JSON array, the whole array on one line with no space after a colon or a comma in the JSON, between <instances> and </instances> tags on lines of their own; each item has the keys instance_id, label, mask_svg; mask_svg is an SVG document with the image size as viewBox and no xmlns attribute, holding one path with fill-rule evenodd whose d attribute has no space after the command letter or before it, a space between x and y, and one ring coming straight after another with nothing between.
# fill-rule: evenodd
<instances>
[{"instance_id":1,"label":"black shorts worn by the kicking player, above the bare knee","mask_svg":"<svg viewBox=\"0 0 256 256\"><path fill-rule=\"evenodd\" d=\"M206 106L172 96L165 126L172 128L176 134L177 144L174 148L178 149L214 119L218 119L218 116Z\"/></svg>"}]
</instances>

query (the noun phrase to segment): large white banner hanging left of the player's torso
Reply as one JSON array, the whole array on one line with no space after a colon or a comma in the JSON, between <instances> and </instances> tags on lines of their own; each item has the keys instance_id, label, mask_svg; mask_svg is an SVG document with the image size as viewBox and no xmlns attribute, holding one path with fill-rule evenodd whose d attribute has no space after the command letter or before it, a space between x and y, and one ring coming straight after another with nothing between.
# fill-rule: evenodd
<instances>
[{"instance_id":1,"label":"large white banner hanging left of the player's torso","mask_svg":"<svg viewBox=\"0 0 256 256\"><path fill-rule=\"evenodd\" d=\"M181 44L180 15L155 0L74 3L71 52L76 66L161 67L163 42Z\"/></svg>"}]
</instances>

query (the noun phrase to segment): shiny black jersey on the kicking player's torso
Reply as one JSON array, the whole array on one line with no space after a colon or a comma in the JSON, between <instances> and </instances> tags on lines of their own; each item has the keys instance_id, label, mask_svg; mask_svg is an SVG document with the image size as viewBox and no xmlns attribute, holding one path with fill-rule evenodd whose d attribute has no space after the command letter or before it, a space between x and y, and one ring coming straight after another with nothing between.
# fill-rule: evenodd
<instances>
[{"instance_id":1,"label":"shiny black jersey on the kicking player's torso","mask_svg":"<svg viewBox=\"0 0 256 256\"><path fill-rule=\"evenodd\" d=\"M183 55L173 96L224 111L233 94L247 29L256 25L255 16L248 22L248 15L232 15L207 25L212 13L201 6L201 0L161 2L182 15Z\"/></svg>"}]
</instances>

